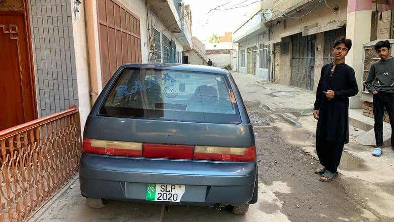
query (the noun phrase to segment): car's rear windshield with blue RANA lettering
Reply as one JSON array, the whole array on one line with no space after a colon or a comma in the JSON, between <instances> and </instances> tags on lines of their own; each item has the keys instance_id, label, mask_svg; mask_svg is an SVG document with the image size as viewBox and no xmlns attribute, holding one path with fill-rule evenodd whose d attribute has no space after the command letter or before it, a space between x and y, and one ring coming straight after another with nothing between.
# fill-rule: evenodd
<instances>
[{"instance_id":1,"label":"car's rear windshield with blue RANA lettering","mask_svg":"<svg viewBox=\"0 0 394 222\"><path fill-rule=\"evenodd\" d=\"M125 69L99 114L190 122L240 123L226 75Z\"/></svg>"}]
</instances>

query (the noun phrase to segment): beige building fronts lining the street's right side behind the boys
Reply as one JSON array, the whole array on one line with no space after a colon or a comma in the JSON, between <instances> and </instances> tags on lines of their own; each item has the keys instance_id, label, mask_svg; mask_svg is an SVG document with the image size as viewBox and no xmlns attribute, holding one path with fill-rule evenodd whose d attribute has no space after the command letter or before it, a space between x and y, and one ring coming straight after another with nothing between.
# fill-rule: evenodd
<instances>
[{"instance_id":1,"label":"beige building fronts lining the street's right side behind the boys","mask_svg":"<svg viewBox=\"0 0 394 222\"><path fill-rule=\"evenodd\" d=\"M351 98L350 108L362 106L364 115L372 116L372 96L364 90L363 84L371 61L378 58L368 43L394 38L394 0L277 0L271 3L262 3L261 8L272 9L269 19L264 20L265 16L261 19L269 33L267 39L261 38L263 28L257 32L250 28L259 22L258 15L245 23L249 24L249 28L244 28L246 31L240 27L234 33L234 42L239 43L239 72L316 91L321 68L333 60L334 40L345 36L353 41L345 62L354 68L360 88L359 95ZM268 67L271 68L268 78L259 73L261 59L257 57L262 55L259 44L268 45Z\"/></svg>"}]
</instances>

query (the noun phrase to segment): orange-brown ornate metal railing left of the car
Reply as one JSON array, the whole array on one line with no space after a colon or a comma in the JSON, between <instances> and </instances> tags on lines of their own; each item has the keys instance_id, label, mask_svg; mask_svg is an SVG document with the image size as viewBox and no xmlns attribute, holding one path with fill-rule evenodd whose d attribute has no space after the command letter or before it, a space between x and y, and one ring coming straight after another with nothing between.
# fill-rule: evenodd
<instances>
[{"instance_id":1,"label":"orange-brown ornate metal railing left of the car","mask_svg":"<svg viewBox=\"0 0 394 222\"><path fill-rule=\"evenodd\" d=\"M26 221L77 172L80 153L77 108L0 131L0 222Z\"/></svg>"}]
</instances>

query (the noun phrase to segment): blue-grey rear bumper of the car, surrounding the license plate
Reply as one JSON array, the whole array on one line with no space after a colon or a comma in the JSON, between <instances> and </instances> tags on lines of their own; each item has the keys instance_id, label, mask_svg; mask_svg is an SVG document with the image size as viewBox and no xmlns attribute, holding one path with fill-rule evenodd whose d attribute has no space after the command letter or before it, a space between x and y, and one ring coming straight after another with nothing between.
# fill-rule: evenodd
<instances>
[{"instance_id":1,"label":"blue-grey rear bumper of the car, surrounding the license plate","mask_svg":"<svg viewBox=\"0 0 394 222\"><path fill-rule=\"evenodd\" d=\"M145 201L147 184L185 185L182 205L242 205L253 196L255 162L143 159L83 153L81 193L89 198Z\"/></svg>"}]
</instances>

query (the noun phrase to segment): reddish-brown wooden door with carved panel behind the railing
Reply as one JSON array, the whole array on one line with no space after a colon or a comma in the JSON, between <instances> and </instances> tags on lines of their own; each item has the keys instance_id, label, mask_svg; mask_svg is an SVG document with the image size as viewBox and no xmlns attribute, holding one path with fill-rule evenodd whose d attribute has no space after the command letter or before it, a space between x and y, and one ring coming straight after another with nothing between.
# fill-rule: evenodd
<instances>
[{"instance_id":1,"label":"reddish-brown wooden door with carved panel behind the railing","mask_svg":"<svg viewBox=\"0 0 394 222\"><path fill-rule=\"evenodd\" d=\"M0 5L0 130L37 118L29 16L15 1Z\"/></svg>"}]
</instances>

